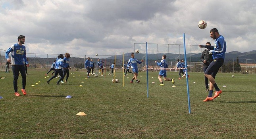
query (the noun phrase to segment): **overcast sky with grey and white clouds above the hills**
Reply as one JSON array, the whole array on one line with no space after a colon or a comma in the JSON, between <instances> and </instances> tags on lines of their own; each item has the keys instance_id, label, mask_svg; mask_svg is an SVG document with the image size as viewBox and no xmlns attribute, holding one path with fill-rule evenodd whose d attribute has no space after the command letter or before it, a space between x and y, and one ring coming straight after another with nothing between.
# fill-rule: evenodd
<instances>
[{"instance_id":1,"label":"overcast sky with grey and white clouds above the hills","mask_svg":"<svg viewBox=\"0 0 256 139\"><path fill-rule=\"evenodd\" d=\"M0 6L3 50L22 34L27 53L144 53L146 42L148 53L184 53L183 33L188 45L214 44L212 28L225 37L227 52L256 50L255 0L0 0ZM198 28L200 20L206 29Z\"/></svg>"}]
</instances>

